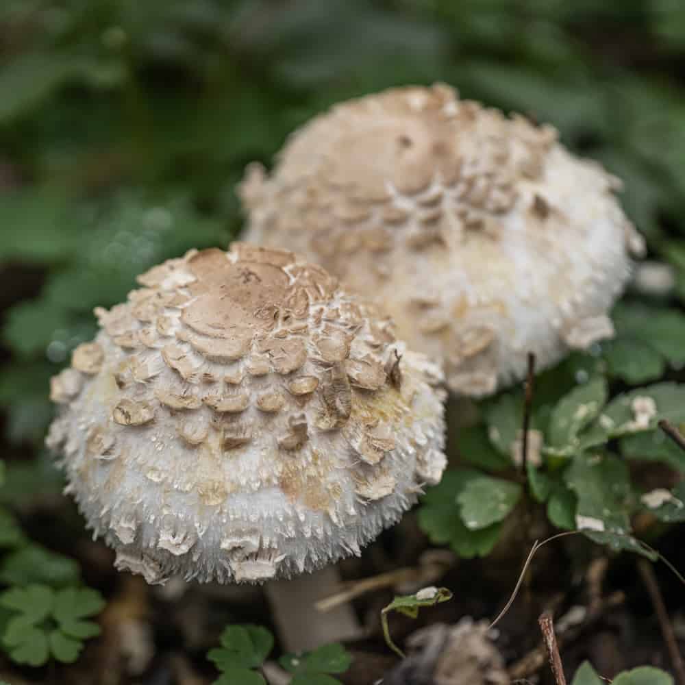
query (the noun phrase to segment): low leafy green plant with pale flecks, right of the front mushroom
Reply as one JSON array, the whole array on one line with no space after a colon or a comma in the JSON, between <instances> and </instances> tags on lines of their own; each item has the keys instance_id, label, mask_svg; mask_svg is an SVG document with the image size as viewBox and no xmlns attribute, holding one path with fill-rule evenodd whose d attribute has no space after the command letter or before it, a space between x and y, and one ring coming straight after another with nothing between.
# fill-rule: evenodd
<instances>
[{"instance_id":1,"label":"low leafy green plant with pale flecks, right of the front mushroom","mask_svg":"<svg viewBox=\"0 0 685 685\"><path fill-rule=\"evenodd\" d=\"M449 544L462 557L486 556L527 497L545 507L555 527L653 558L631 536L631 517L648 511L661 521L685 521L685 490L678 484L645 493L632 481L629 464L662 462L685 473L685 451L658 428L665 419L685 430L685 385L660 382L611 396L608 374L619 369L624 382L634 379L632 367L623 373L616 364L616 345L629 335L662 354L664 365L680 366L685 316L657 310L649 336L640 330L643 316L638 306L622 306L619 335L603 351L575 354L535 379L523 484L523 390L479 403L481 420L458 438L464 465L447 471L419 510L433 543Z\"/></svg>"}]
</instances>

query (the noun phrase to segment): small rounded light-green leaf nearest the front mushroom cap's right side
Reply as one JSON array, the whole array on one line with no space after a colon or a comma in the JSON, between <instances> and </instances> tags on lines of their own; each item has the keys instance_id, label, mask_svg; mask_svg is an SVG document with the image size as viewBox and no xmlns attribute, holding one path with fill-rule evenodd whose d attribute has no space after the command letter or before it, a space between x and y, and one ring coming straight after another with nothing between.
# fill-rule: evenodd
<instances>
[{"instance_id":1,"label":"small rounded light-green leaf nearest the front mushroom cap's right side","mask_svg":"<svg viewBox=\"0 0 685 685\"><path fill-rule=\"evenodd\" d=\"M466 479L457 495L462 521L468 530L482 530L506 519L523 492L518 483L482 473Z\"/></svg>"}]
</instances>

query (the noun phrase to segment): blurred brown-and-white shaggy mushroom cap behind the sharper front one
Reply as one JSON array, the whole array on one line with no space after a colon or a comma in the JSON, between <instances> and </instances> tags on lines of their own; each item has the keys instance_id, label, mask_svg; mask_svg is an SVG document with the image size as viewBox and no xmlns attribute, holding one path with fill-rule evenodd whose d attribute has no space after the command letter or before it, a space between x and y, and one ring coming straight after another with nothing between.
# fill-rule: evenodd
<instances>
[{"instance_id":1,"label":"blurred brown-and-white shaggy mushroom cap behind the sharper front one","mask_svg":"<svg viewBox=\"0 0 685 685\"><path fill-rule=\"evenodd\" d=\"M556 131L444 85L337 105L240 187L247 240L303 253L373 293L453 392L487 395L612 335L643 250L619 182Z\"/></svg>"}]
</instances>

